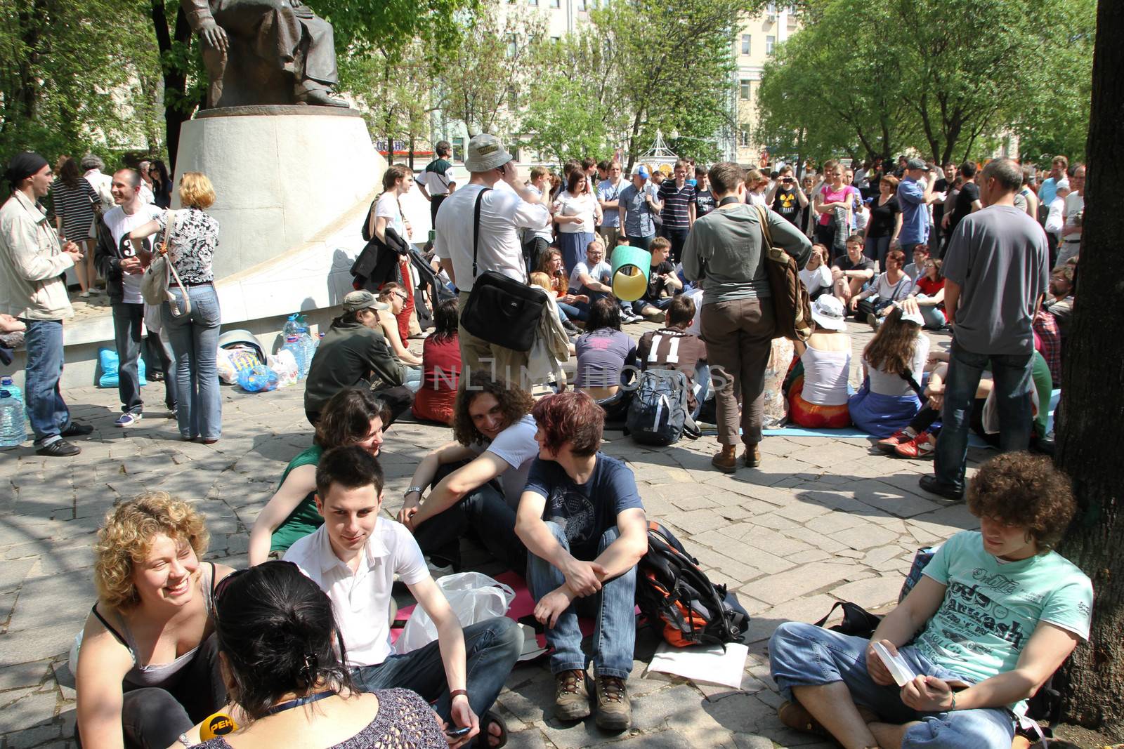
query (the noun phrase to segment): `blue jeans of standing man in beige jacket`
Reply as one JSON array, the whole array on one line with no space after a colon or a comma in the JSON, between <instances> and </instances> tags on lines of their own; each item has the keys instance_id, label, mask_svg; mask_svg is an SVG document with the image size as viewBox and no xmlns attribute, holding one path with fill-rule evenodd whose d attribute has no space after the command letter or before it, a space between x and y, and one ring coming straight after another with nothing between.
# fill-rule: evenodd
<instances>
[{"instance_id":1,"label":"blue jeans of standing man in beige jacket","mask_svg":"<svg viewBox=\"0 0 1124 749\"><path fill-rule=\"evenodd\" d=\"M63 321L24 319L27 331L27 366L24 369L24 404L35 444L56 441L70 426L70 410L58 392L63 376Z\"/></svg>"}]
</instances>

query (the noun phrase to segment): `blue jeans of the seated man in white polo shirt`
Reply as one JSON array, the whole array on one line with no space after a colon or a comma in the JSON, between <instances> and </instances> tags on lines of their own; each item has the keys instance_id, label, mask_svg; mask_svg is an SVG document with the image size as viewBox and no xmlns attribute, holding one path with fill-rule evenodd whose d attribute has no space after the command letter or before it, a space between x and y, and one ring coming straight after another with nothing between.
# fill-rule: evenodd
<instances>
[{"instance_id":1,"label":"blue jeans of the seated man in white polo shirt","mask_svg":"<svg viewBox=\"0 0 1124 749\"><path fill-rule=\"evenodd\" d=\"M464 628L465 689L472 712L483 716L504 688L523 650L523 631L507 616L489 619ZM352 678L364 692L402 687L414 689L447 721L452 700L436 640L401 656L390 656L381 664L352 670Z\"/></svg>"}]
</instances>

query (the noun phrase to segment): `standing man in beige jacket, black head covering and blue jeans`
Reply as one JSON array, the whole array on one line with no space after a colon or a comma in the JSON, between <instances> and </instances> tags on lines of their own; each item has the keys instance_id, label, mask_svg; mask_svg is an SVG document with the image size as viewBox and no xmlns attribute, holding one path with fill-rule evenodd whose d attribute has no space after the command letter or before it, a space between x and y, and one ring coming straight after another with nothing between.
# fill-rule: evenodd
<instances>
[{"instance_id":1,"label":"standing man in beige jacket, black head covering and blue jeans","mask_svg":"<svg viewBox=\"0 0 1124 749\"><path fill-rule=\"evenodd\" d=\"M93 428L70 419L58 392L63 372L63 320L74 317L63 274L82 258L78 245L60 247L38 200L51 190L54 173L33 153L17 154L6 173L11 197L0 208L0 312L27 326L24 402L38 455L70 457L81 453L66 437Z\"/></svg>"}]
</instances>

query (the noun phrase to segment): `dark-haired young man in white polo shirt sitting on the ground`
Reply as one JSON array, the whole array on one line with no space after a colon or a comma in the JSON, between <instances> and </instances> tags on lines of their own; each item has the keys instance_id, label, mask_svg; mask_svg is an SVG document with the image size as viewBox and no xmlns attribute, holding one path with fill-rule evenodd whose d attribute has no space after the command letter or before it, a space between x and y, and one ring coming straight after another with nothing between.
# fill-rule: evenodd
<instances>
[{"instance_id":1,"label":"dark-haired young man in white polo shirt sitting on the ground","mask_svg":"<svg viewBox=\"0 0 1124 749\"><path fill-rule=\"evenodd\" d=\"M523 633L506 618L461 624L400 523L380 518L383 475L357 447L339 447L316 468L316 508L324 524L284 555L327 593L347 650L352 677L365 691L404 687L433 703L460 747L480 732L498 746L507 732L490 711L523 649ZM395 575L437 628L437 640L405 655L390 647L390 592ZM481 716L481 718L478 718Z\"/></svg>"}]
</instances>

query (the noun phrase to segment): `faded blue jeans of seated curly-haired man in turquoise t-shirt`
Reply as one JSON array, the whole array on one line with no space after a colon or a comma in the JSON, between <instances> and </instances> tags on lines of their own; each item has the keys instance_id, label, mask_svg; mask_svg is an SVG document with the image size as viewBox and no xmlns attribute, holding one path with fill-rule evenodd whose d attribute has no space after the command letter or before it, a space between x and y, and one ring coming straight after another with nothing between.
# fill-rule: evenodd
<instances>
[{"instance_id":1,"label":"faded blue jeans of seated curly-haired man in turquoise t-shirt","mask_svg":"<svg viewBox=\"0 0 1124 749\"><path fill-rule=\"evenodd\" d=\"M867 673L867 645L861 637L840 634L815 624L785 622L769 640L769 670L780 693L792 700L794 686L843 682L856 705L864 705L888 723L921 721L901 739L903 749L1007 749L1015 737L1012 713L1001 707L919 713L901 702L900 687L879 686ZM960 679L930 661L912 646L898 652L918 674ZM963 681L963 679L961 679Z\"/></svg>"}]
</instances>

